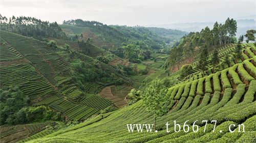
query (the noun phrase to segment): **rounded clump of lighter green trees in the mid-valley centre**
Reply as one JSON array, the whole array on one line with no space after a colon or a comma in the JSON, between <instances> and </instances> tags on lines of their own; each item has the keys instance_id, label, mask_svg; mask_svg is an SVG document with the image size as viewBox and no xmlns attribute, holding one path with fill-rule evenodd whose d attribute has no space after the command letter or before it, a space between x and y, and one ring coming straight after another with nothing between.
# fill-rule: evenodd
<instances>
[{"instance_id":1,"label":"rounded clump of lighter green trees in the mid-valley centre","mask_svg":"<svg viewBox=\"0 0 256 143\"><path fill-rule=\"evenodd\" d=\"M131 41L123 43L120 48L112 49L111 52L129 62L141 63L141 61L151 58L152 51L143 41Z\"/></svg>"}]
</instances>

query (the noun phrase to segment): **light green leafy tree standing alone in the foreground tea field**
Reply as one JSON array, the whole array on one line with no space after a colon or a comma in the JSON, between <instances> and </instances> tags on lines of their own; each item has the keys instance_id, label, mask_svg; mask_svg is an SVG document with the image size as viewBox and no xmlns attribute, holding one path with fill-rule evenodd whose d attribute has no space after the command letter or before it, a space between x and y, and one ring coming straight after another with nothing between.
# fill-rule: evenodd
<instances>
[{"instance_id":1,"label":"light green leafy tree standing alone in the foreground tea field","mask_svg":"<svg viewBox=\"0 0 256 143\"><path fill-rule=\"evenodd\" d=\"M156 130L156 117L162 115L167 111L164 106L168 102L166 95L166 87L162 84L159 78L151 81L145 89L143 103L146 105L146 110L154 114L154 129Z\"/></svg>"}]
</instances>

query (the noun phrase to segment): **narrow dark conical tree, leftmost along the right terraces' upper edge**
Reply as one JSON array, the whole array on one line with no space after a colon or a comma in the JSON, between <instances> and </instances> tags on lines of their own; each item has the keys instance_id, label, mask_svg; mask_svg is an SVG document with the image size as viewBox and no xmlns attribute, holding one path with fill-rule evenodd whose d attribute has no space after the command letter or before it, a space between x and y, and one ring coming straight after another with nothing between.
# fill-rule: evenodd
<instances>
[{"instance_id":1,"label":"narrow dark conical tree, leftmost along the right terraces' upper edge","mask_svg":"<svg viewBox=\"0 0 256 143\"><path fill-rule=\"evenodd\" d=\"M204 71L207 70L207 56L208 56L208 50L206 46L203 46L201 49L199 64L198 64L198 68L203 72L203 75L204 75Z\"/></svg>"}]
</instances>

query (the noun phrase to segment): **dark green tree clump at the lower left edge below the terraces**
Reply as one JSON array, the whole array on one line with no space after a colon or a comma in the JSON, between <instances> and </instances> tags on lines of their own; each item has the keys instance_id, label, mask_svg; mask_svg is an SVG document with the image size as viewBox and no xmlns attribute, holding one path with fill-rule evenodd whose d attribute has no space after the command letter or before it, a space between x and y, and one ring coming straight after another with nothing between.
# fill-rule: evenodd
<instances>
[{"instance_id":1,"label":"dark green tree clump at the lower left edge below the terraces","mask_svg":"<svg viewBox=\"0 0 256 143\"><path fill-rule=\"evenodd\" d=\"M17 87L0 89L0 125L61 120L59 112L46 106L29 107L29 97Z\"/></svg>"}]
</instances>

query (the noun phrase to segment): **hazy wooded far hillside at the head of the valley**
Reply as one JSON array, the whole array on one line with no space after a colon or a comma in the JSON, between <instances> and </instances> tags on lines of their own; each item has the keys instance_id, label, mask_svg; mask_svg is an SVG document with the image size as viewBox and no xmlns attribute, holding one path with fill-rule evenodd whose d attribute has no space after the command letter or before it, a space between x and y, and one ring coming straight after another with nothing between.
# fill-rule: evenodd
<instances>
[{"instance_id":1,"label":"hazy wooded far hillside at the head of the valley","mask_svg":"<svg viewBox=\"0 0 256 143\"><path fill-rule=\"evenodd\" d=\"M83 35L87 40L104 49L121 46L131 40L142 40L153 49L165 48L164 43L179 40L185 33L168 30L163 34L163 28L148 28L142 26L106 25L97 21L83 21L81 19L63 21L60 25L67 35Z\"/></svg>"}]
</instances>

